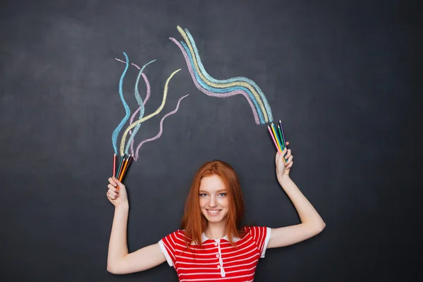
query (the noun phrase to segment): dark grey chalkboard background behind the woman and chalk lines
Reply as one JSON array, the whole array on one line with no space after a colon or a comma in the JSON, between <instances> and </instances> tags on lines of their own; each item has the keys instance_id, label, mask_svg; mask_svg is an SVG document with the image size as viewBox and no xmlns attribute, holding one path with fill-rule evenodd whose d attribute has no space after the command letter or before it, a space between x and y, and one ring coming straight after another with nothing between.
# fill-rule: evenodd
<instances>
[{"instance_id":1,"label":"dark grey chalkboard background behind the woman and chalk lines","mask_svg":"<svg viewBox=\"0 0 423 282\"><path fill-rule=\"evenodd\" d=\"M175 231L193 173L222 159L239 173L245 221L299 222L274 176L274 145L242 96L207 97L168 37L188 28L206 70L245 76L283 121L291 176L326 221L317 237L269 250L256 281L417 281L422 128L419 8L409 1L1 1L1 281L177 281L162 264L106 271L114 208L111 133L125 115L124 68L152 85L125 178L130 251ZM123 90L131 105L137 70ZM145 95L145 84L140 82Z\"/></svg>"}]
</instances>

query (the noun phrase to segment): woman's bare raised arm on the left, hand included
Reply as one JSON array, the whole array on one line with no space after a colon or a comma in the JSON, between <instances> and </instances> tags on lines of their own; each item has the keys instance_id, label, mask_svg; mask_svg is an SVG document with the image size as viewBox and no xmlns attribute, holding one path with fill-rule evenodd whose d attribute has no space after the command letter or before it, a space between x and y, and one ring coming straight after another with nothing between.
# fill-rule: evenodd
<instances>
[{"instance_id":1,"label":"woman's bare raised arm on the left, hand included","mask_svg":"<svg viewBox=\"0 0 423 282\"><path fill-rule=\"evenodd\" d=\"M151 269L166 262L166 257L161 252L158 243L128 253L126 230L128 227L129 203L126 188L115 177L109 178L107 187L109 188L106 193L107 198L115 206L107 255L107 271L112 274L130 274Z\"/></svg>"}]
</instances>

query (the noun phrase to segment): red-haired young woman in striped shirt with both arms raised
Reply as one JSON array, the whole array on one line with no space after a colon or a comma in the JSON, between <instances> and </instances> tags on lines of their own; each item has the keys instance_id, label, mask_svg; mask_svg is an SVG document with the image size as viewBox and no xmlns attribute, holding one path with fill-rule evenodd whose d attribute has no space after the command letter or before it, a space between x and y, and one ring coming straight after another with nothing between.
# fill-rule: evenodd
<instances>
[{"instance_id":1,"label":"red-haired young woman in striped shirt with both arms raised","mask_svg":"<svg viewBox=\"0 0 423 282\"><path fill-rule=\"evenodd\" d=\"M128 253L126 242L129 204L125 185L109 178L106 195L114 204L115 213L107 270L129 274L167 261L176 269L180 281L253 281L257 262L266 249L293 245L325 227L321 216L290 179L292 166L290 149L276 153L278 182L297 209L300 224L241 227L244 202L238 176L225 162L209 161L192 181L181 229L132 253Z\"/></svg>"}]
</instances>

